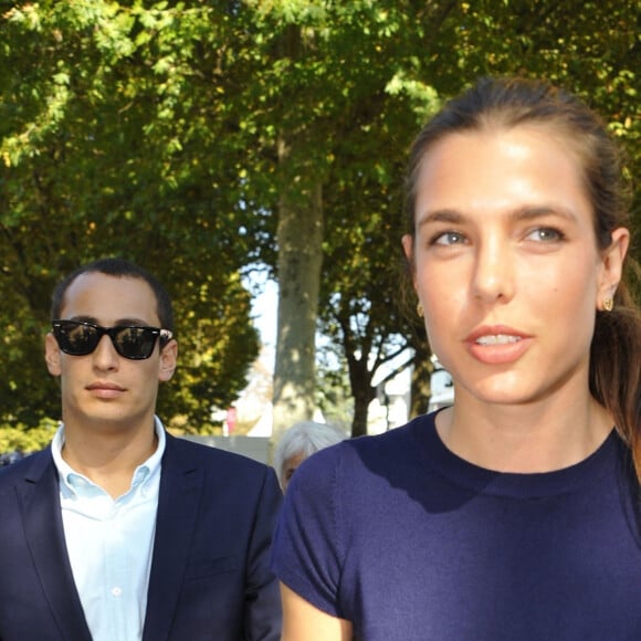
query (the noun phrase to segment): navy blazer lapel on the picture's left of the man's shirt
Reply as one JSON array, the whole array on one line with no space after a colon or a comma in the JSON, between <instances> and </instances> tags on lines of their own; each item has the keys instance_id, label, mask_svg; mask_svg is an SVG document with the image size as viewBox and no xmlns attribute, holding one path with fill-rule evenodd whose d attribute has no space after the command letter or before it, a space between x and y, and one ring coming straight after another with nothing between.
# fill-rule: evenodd
<instances>
[{"instance_id":1,"label":"navy blazer lapel on the picture's left of the man's shirt","mask_svg":"<svg viewBox=\"0 0 641 641\"><path fill-rule=\"evenodd\" d=\"M57 473L51 452L33 456L17 494L27 545L64 639L91 641L66 553Z\"/></svg>"}]
</instances>

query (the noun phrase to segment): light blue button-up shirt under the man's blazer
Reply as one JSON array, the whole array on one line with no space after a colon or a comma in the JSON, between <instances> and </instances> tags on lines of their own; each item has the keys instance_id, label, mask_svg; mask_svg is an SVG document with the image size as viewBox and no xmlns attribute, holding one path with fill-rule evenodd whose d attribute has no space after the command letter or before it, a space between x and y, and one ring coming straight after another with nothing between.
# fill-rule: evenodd
<instances>
[{"instance_id":1,"label":"light blue button-up shirt under the man's blazer","mask_svg":"<svg viewBox=\"0 0 641 641\"><path fill-rule=\"evenodd\" d=\"M160 487L165 429L155 418L156 452L114 500L63 460L64 425L51 451L57 467L66 549L94 641L143 638Z\"/></svg>"}]
</instances>

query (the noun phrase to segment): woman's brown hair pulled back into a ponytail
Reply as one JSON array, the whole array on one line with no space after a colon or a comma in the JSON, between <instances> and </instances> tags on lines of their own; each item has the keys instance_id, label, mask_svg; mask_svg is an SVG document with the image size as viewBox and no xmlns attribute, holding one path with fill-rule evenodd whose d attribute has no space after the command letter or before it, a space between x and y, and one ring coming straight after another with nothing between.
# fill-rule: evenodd
<instances>
[{"instance_id":1,"label":"woman's brown hair pulled back into a ponytail","mask_svg":"<svg viewBox=\"0 0 641 641\"><path fill-rule=\"evenodd\" d=\"M600 117L577 96L544 81L482 78L450 101L412 145L406 185L408 233L414 235L421 161L438 140L454 133L519 125L545 127L577 159L592 204L597 245L601 251L610 246L613 230L631 228L631 200L620 149ZM630 258L627 263L627 276L617 290L614 308L595 312L589 385L592 396L614 418L641 481L641 316L627 283L627 277L638 279L639 265Z\"/></svg>"}]
</instances>

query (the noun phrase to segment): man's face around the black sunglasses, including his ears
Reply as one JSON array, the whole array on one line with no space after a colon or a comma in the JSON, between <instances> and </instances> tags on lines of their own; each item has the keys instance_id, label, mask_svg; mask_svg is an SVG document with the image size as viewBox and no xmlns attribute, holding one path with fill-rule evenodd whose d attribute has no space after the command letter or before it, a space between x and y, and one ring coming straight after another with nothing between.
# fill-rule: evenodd
<instances>
[{"instance_id":1,"label":"man's face around the black sunglasses, including his ears","mask_svg":"<svg viewBox=\"0 0 641 641\"><path fill-rule=\"evenodd\" d=\"M102 273L78 276L65 293L62 319L84 320L103 327L141 325L160 327L151 287L140 279ZM112 339L103 336L92 354L61 351L48 335L45 357L50 374L60 376L65 429L122 431L153 424L158 385L176 367L177 344L151 356L130 360L119 356Z\"/></svg>"}]
</instances>

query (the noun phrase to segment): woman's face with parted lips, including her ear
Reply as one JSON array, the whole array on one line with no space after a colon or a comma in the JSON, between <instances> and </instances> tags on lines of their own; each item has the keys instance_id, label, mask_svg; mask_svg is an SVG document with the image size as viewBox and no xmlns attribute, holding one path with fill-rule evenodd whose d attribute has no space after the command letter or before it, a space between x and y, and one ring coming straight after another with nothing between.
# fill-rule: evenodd
<instances>
[{"instance_id":1,"label":"woman's face with parted lips, including her ear","mask_svg":"<svg viewBox=\"0 0 641 641\"><path fill-rule=\"evenodd\" d=\"M422 160L403 238L433 351L456 398L536 401L587 390L595 313L627 230L597 249L576 157L540 126L451 134Z\"/></svg>"}]
</instances>

